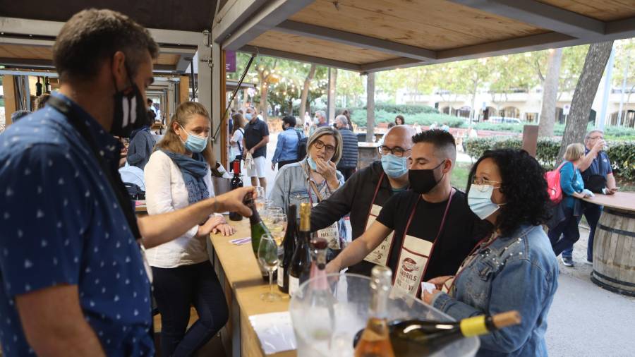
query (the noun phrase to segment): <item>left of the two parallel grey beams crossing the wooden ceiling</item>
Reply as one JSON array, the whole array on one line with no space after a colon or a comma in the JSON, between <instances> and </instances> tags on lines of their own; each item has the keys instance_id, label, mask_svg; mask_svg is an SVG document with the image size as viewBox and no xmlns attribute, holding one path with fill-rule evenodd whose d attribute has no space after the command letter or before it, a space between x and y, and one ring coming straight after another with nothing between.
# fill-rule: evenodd
<instances>
[{"instance_id":1,"label":"left of the two parallel grey beams crossing the wooden ceiling","mask_svg":"<svg viewBox=\"0 0 635 357\"><path fill-rule=\"evenodd\" d=\"M418 59L419 61L428 61L430 59L437 58L436 52L430 51L429 49L382 40L376 37L358 35L356 33L335 30L332 28L324 28L310 23L298 23L296 21L286 20L279 23L274 30L289 33L291 35L300 35L341 44L348 44L349 46L375 49L387 54Z\"/></svg>"}]
</instances>

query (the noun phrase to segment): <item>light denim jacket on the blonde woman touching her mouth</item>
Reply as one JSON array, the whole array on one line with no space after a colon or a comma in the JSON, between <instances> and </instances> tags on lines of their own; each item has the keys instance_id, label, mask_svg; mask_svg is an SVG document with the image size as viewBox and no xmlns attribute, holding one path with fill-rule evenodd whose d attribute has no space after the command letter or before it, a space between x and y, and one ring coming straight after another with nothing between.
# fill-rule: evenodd
<instances>
[{"instance_id":1,"label":"light denim jacket on the blonde woman touching her mouth","mask_svg":"<svg viewBox=\"0 0 635 357\"><path fill-rule=\"evenodd\" d=\"M315 195L315 192L310 189L305 165L307 165L306 159L303 159L301 162L294 162L293 164L285 165L278 171L276 182L274 183L274 188L272 189L269 198L273 201L274 206L282 207L285 214L289 205L296 205L298 208L298 217L300 217L300 204L302 202L313 202L315 205L320 203L317 199L317 195ZM342 176L339 171L335 171L335 176L337 176L337 181L339 181L339 187L344 186L344 176ZM320 190L322 200L326 200L332 194L332 191L326 181L324 181L321 185L317 185L317 189ZM340 242L343 242L345 238L346 226L344 225L344 219L340 219Z\"/></svg>"}]
</instances>

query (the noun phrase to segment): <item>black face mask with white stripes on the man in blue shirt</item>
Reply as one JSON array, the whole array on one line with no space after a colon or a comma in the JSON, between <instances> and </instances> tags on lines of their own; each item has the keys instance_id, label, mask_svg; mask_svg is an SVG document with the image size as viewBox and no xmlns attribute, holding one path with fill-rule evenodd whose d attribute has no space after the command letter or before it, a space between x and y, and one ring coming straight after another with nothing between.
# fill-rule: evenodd
<instances>
[{"instance_id":1,"label":"black face mask with white stripes on the man in blue shirt","mask_svg":"<svg viewBox=\"0 0 635 357\"><path fill-rule=\"evenodd\" d=\"M130 71L127 68L126 72L130 78ZM147 122L143 95L130 78L130 87L116 92L113 100L114 111L110 133L121 138L129 138L133 130L143 128Z\"/></svg>"}]
</instances>

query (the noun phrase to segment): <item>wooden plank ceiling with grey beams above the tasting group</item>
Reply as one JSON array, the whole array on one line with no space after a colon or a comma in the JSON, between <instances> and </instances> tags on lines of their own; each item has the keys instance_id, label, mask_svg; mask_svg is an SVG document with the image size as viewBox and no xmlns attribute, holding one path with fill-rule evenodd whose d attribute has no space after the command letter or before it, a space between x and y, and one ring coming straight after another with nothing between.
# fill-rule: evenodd
<instances>
[{"instance_id":1,"label":"wooden plank ceiling with grey beams above the tasting group","mask_svg":"<svg viewBox=\"0 0 635 357\"><path fill-rule=\"evenodd\" d=\"M635 0L258 2L228 0L212 39L360 72L635 37Z\"/></svg>"}]
</instances>

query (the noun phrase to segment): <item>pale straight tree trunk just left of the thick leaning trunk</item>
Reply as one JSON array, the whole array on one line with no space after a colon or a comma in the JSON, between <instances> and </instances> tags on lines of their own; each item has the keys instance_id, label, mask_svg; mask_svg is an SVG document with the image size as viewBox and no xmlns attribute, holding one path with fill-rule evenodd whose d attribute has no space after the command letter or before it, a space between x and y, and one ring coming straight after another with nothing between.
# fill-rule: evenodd
<instances>
[{"instance_id":1,"label":"pale straight tree trunk just left of the thick leaning trunk","mask_svg":"<svg viewBox=\"0 0 635 357\"><path fill-rule=\"evenodd\" d=\"M547 75L543 81L543 107L540 110L538 136L553 135L558 84L560 83L560 63L562 63L562 49L550 49Z\"/></svg>"}]
</instances>

